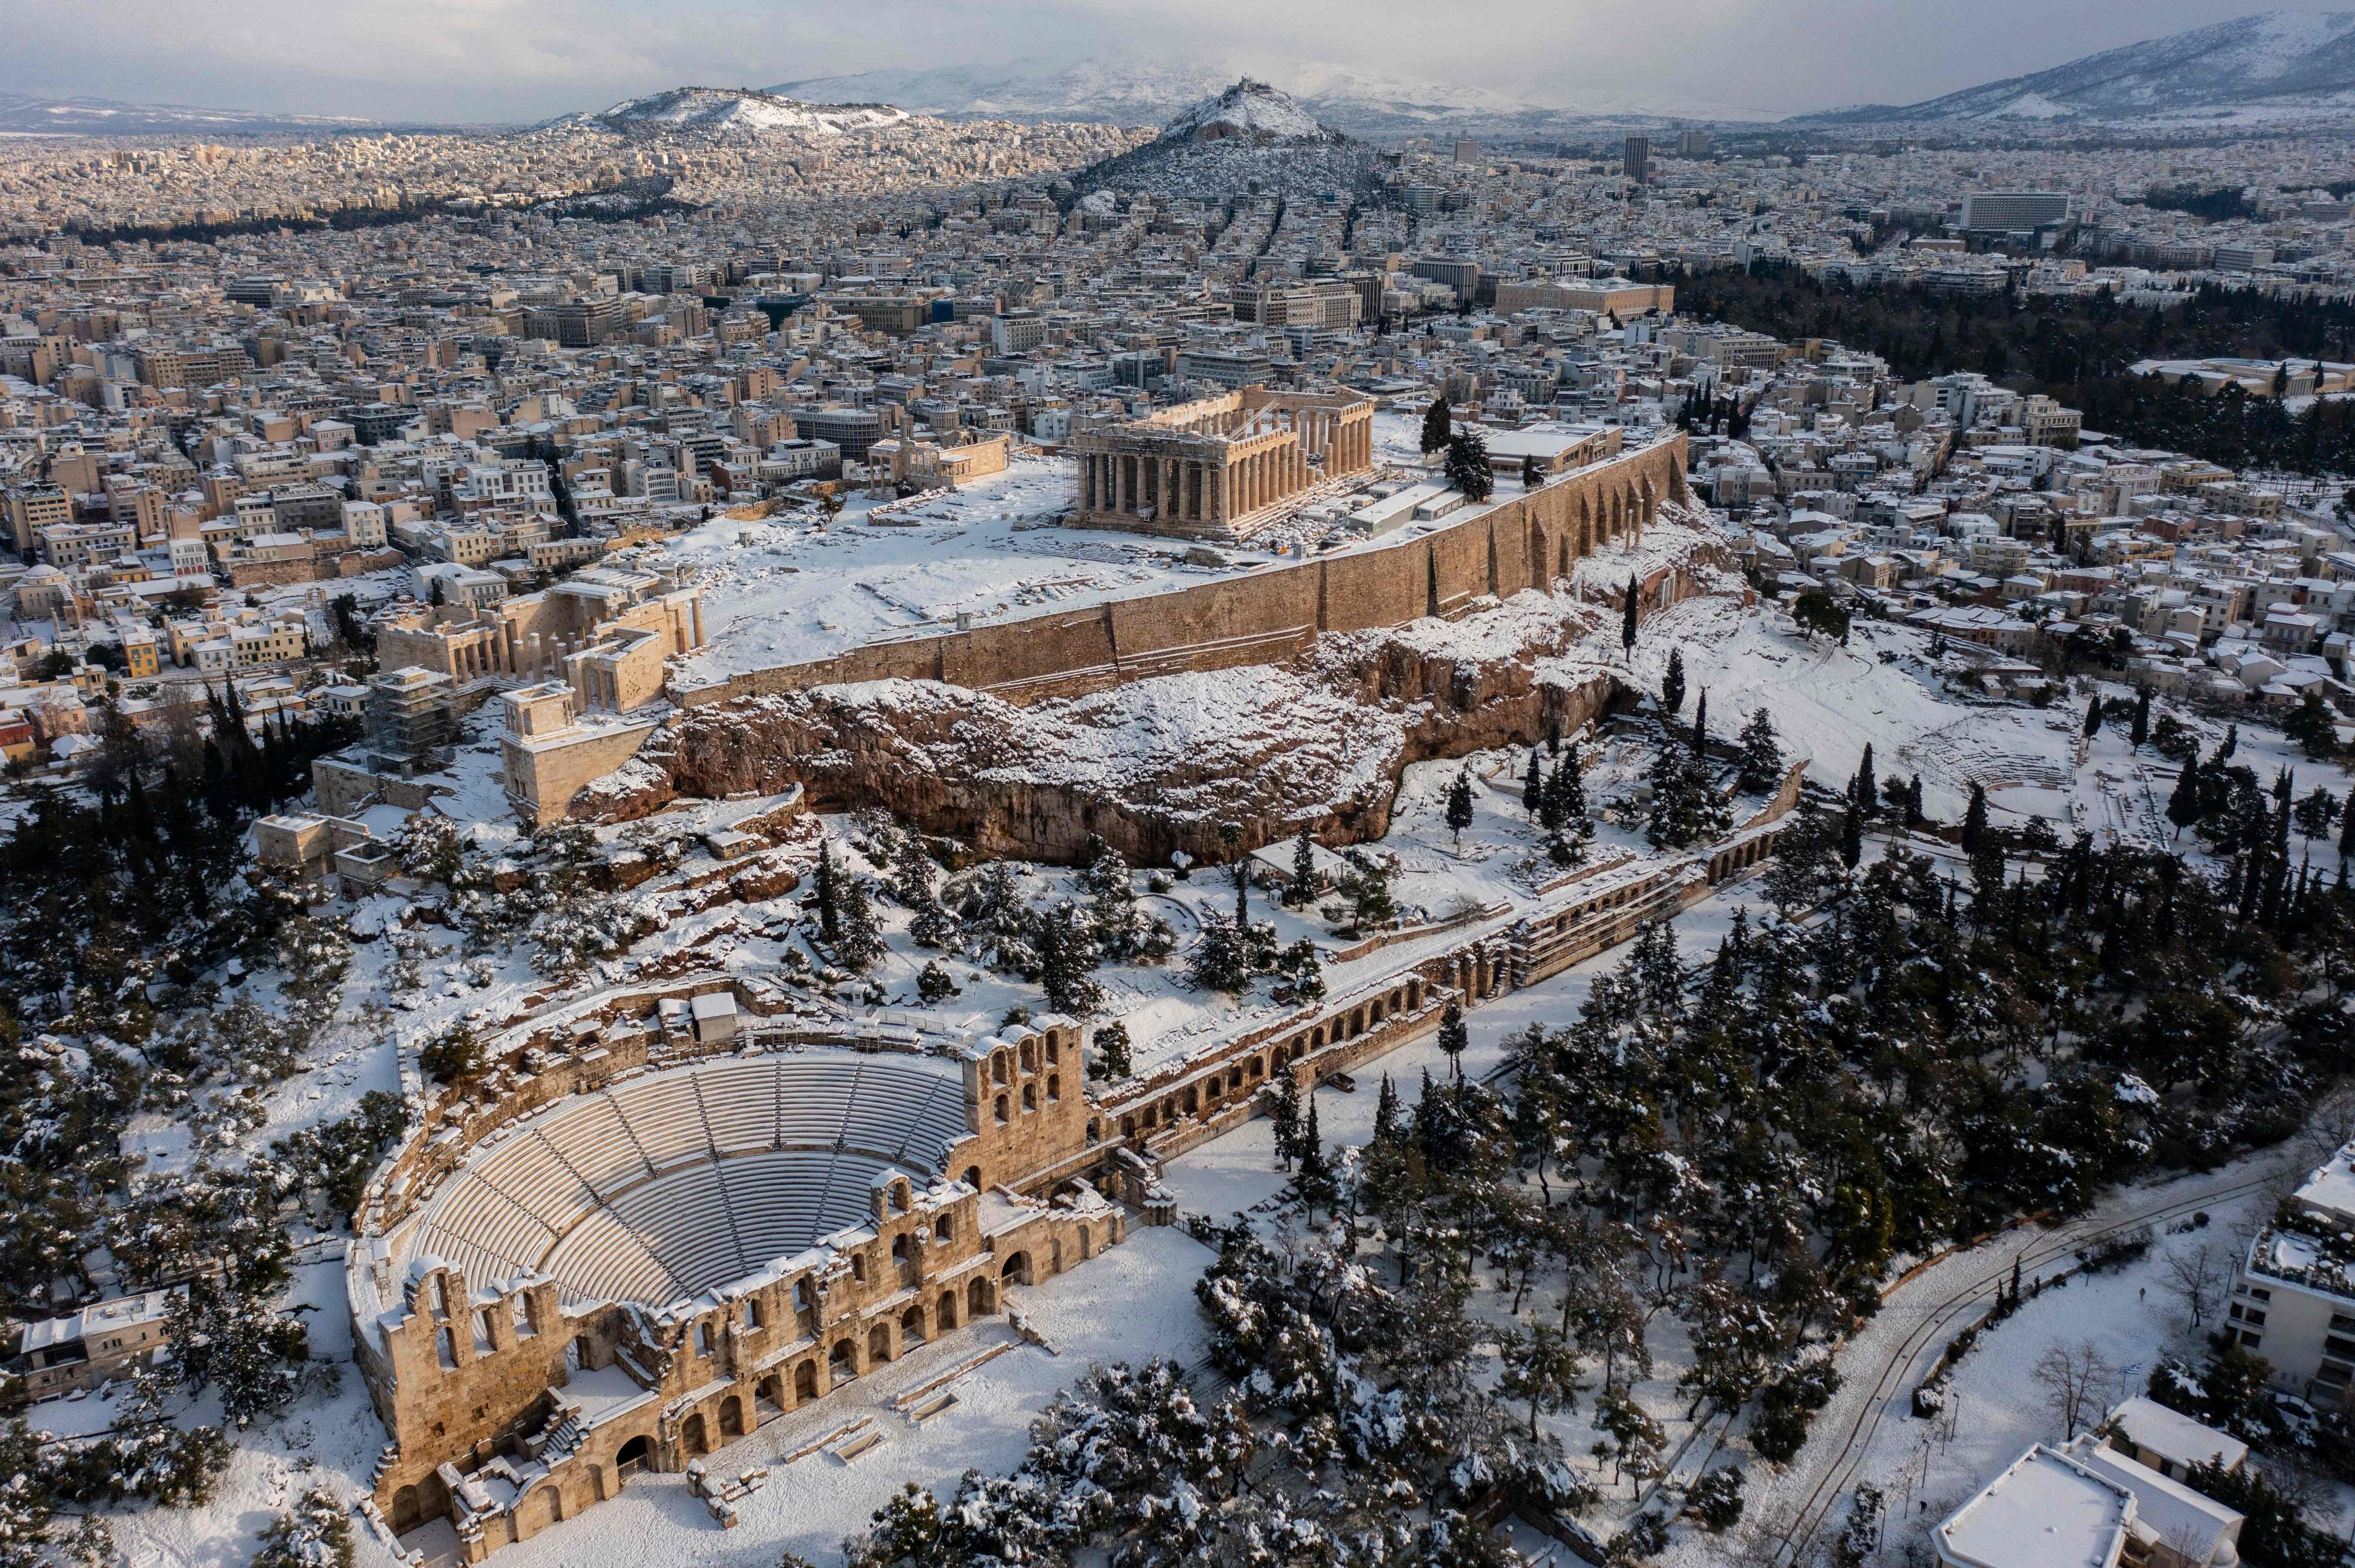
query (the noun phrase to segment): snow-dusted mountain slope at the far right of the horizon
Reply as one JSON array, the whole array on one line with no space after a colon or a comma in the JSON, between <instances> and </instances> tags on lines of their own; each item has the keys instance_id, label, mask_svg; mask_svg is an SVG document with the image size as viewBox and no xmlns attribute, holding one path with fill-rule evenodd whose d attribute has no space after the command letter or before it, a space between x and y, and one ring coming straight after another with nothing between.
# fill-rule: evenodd
<instances>
[{"instance_id":1,"label":"snow-dusted mountain slope at the far right of the horizon","mask_svg":"<svg viewBox=\"0 0 2355 1568\"><path fill-rule=\"evenodd\" d=\"M2035 75L1926 104L1865 104L1813 122L2164 120L2294 115L2355 106L2355 12L2258 12L2190 33L2103 49Z\"/></svg>"}]
</instances>

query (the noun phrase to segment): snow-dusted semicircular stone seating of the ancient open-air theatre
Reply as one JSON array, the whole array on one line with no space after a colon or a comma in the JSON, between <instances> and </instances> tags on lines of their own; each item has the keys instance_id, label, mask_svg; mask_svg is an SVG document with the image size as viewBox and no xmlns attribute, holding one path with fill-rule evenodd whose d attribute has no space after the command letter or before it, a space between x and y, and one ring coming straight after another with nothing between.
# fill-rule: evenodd
<instances>
[{"instance_id":1,"label":"snow-dusted semicircular stone seating of the ancient open-air theatre","mask_svg":"<svg viewBox=\"0 0 2355 1568\"><path fill-rule=\"evenodd\" d=\"M624 1078L502 1128L410 1231L473 1288L546 1274L570 1304L664 1304L871 1217L874 1182L949 1168L963 1074L787 1052Z\"/></svg>"}]
</instances>

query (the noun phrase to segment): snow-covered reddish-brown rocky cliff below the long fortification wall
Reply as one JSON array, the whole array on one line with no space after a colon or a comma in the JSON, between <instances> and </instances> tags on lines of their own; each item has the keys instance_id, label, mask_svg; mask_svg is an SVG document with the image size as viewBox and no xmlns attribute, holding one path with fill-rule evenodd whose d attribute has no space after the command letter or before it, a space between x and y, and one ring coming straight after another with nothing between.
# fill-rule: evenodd
<instances>
[{"instance_id":1,"label":"snow-covered reddish-brown rocky cliff below the long fortification wall","mask_svg":"<svg viewBox=\"0 0 2355 1568\"><path fill-rule=\"evenodd\" d=\"M1738 589L1691 553L1670 598ZM1646 603L1656 603L1646 596ZM1573 732L1625 695L1618 610L1519 593L1455 622L1321 638L1291 666L1161 676L1015 706L930 680L871 680L690 709L575 815L624 819L671 798L810 791L881 805L977 855L1074 859L1102 836L1133 864L1225 857L1307 826L1380 838L1399 772L1425 758Z\"/></svg>"}]
</instances>

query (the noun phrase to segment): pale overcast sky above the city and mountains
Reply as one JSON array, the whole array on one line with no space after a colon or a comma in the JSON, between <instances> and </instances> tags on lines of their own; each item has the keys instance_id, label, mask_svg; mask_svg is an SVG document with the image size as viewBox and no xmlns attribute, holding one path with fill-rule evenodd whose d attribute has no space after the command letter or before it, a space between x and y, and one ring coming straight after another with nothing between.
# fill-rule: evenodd
<instances>
[{"instance_id":1,"label":"pale overcast sky above the city and mountains","mask_svg":"<svg viewBox=\"0 0 2355 1568\"><path fill-rule=\"evenodd\" d=\"M1592 111L1910 104L2249 0L0 0L0 92L513 122L958 61L1342 64Z\"/></svg>"}]
</instances>

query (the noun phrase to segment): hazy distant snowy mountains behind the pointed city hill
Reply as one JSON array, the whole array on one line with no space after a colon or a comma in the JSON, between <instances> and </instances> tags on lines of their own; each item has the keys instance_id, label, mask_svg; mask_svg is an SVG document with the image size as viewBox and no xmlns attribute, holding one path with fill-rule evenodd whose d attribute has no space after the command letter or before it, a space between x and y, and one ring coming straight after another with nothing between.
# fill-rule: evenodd
<instances>
[{"instance_id":1,"label":"hazy distant snowy mountains behind the pointed city hill","mask_svg":"<svg viewBox=\"0 0 2355 1568\"><path fill-rule=\"evenodd\" d=\"M937 66L933 71L862 71L770 92L808 99L878 99L914 113L982 120L1112 120L1161 125L1203 97L1215 97L1241 71L1208 61L1086 59L1076 66L1017 59L1003 66ZM1444 87L1356 71L1352 66L1286 66L1269 78L1314 120L1359 137L1434 129L1519 127L1559 111L1484 87Z\"/></svg>"}]
</instances>

